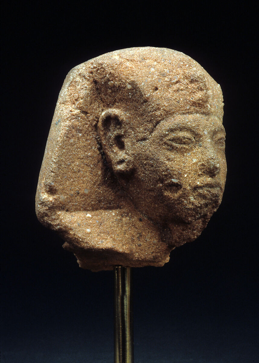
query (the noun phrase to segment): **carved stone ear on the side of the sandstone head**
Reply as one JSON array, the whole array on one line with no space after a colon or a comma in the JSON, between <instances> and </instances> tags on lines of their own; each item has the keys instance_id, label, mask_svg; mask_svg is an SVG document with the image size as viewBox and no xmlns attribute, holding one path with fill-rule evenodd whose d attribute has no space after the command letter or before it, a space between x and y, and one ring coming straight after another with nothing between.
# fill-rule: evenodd
<instances>
[{"instance_id":1,"label":"carved stone ear on the side of the sandstone head","mask_svg":"<svg viewBox=\"0 0 259 363\"><path fill-rule=\"evenodd\" d=\"M127 152L129 135L124 113L117 109L104 111L97 130L106 160L114 173L129 174L133 167L132 158Z\"/></svg>"}]
</instances>

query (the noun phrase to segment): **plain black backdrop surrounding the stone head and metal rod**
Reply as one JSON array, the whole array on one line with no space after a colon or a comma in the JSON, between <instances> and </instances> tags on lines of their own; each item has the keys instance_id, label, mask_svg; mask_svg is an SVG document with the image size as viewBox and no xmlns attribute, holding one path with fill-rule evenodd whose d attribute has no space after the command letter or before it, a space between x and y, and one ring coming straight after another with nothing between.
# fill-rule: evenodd
<instances>
[{"instance_id":1,"label":"plain black backdrop surrounding the stone head and metal rod","mask_svg":"<svg viewBox=\"0 0 259 363\"><path fill-rule=\"evenodd\" d=\"M16 2L4 9L1 362L113 361L112 272L80 269L38 222L34 195L66 74L132 46L184 52L220 83L228 163L222 204L201 236L174 250L163 268L133 271L135 361L259 361L254 12L238 1Z\"/></svg>"}]
</instances>

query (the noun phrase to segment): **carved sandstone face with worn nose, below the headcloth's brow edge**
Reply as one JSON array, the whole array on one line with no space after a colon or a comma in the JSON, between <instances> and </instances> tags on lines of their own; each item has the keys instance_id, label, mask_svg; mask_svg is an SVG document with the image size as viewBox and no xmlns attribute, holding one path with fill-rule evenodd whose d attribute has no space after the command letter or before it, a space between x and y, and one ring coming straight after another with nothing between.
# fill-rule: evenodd
<instances>
[{"instance_id":1,"label":"carved sandstone face with worn nose, below the headcloth's brow edge","mask_svg":"<svg viewBox=\"0 0 259 363\"><path fill-rule=\"evenodd\" d=\"M120 142L122 139L123 147L117 151L126 152L130 170L126 167L116 175L136 208L152 220L189 223L210 217L221 203L226 178L225 130L217 117L171 115L147 140L136 142L131 135L127 140L121 135ZM115 136L115 152L116 146ZM112 166L116 171L116 165Z\"/></svg>"}]
</instances>

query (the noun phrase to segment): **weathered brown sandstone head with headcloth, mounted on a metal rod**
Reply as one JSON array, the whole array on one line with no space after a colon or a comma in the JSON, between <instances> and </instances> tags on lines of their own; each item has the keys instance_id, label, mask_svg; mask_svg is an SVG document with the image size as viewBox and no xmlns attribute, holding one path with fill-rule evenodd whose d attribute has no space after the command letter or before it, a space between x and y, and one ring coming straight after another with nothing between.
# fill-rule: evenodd
<instances>
[{"instance_id":1,"label":"weathered brown sandstone head with headcloth, mounted on a metal rod","mask_svg":"<svg viewBox=\"0 0 259 363\"><path fill-rule=\"evenodd\" d=\"M73 68L60 91L36 213L82 268L163 266L221 203L220 86L192 58L130 48Z\"/></svg>"}]
</instances>

